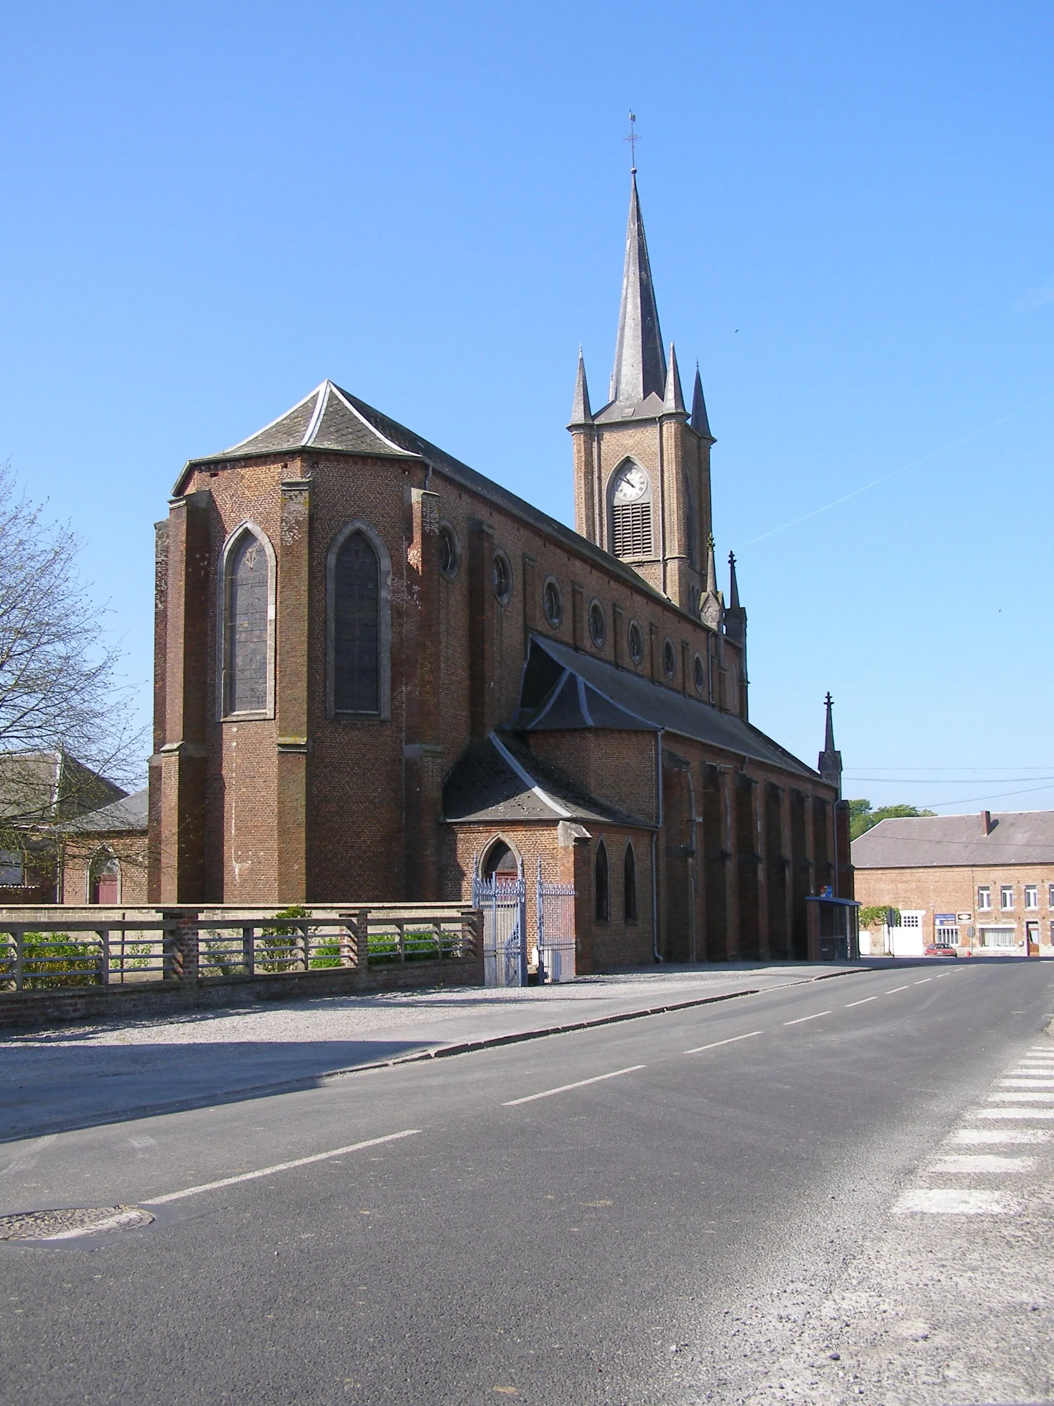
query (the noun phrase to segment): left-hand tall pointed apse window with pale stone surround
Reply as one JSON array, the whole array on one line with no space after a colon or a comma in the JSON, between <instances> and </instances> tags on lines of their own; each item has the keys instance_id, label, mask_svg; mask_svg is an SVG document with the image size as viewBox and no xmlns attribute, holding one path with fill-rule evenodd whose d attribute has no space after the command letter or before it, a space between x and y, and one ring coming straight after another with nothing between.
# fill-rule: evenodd
<instances>
[{"instance_id":1,"label":"left-hand tall pointed apse window with pale stone surround","mask_svg":"<svg viewBox=\"0 0 1054 1406\"><path fill-rule=\"evenodd\" d=\"M266 716L273 709L274 553L246 524L223 553L222 714Z\"/></svg>"}]
</instances>

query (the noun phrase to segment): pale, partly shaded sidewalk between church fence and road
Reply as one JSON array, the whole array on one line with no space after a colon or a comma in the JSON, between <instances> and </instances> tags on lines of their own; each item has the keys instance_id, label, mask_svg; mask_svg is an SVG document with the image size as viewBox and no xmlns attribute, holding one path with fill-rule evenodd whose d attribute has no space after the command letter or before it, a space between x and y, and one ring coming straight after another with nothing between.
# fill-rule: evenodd
<instances>
[{"instance_id":1,"label":"pale, partly shaded sidewalk between church fence and road","mask_svg":"<svg viewBox=\"0 0 1054 1406\"><path fill-rule=\"evenodd\" d=\"M0 1038L0 1139L252 1098L368 1064L877 965L648 967L562 986L344 995L11 1033Z\"/></svg>"}]
</instances>

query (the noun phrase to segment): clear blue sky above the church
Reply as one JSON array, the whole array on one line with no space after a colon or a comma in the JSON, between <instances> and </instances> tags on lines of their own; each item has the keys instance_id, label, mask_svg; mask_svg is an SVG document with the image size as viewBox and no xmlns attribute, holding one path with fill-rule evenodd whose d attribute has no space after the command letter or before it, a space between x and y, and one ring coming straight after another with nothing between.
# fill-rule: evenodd
<instances>
[{"instance_id":1,"label":"clear blue sky above the church","mask_svg":"<svg viewBox=\"0 0 1054 1406\"><path fill-rule=\"evenodd\" d=\"M829 688L849 796L1054 807L1053 41L961 0L7 4L0 458L145 714L183 461L326 375L571 522L632 107L753 721L812 762Z\"/></svg>"}]
</instances>

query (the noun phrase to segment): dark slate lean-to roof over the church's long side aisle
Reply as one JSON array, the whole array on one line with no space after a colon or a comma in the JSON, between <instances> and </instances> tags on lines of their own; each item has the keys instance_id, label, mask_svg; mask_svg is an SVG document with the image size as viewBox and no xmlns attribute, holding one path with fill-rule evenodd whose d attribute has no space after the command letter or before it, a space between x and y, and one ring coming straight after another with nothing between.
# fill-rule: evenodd
<instances>
[{"instance_id":1,"label":"dark slate lean-to roof over the church's long side aisle","mask_svg":"<svg viewBox=\"0 0 1054 1406\"><path fill-rule=\"evenodd\" d=\"M531 636L520 707L509 728L514 733L663 730L808 780L819 779L818 772L741 717L537 634Z\"/></svg>"}]
</instances>

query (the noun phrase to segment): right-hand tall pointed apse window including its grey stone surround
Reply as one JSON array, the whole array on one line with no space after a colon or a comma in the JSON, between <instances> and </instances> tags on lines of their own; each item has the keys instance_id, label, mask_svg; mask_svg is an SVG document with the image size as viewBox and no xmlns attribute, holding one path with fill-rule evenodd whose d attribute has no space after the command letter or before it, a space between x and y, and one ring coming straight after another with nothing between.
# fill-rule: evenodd
<instances>
[{"instance_id":1,"label":"right-hand tall pointed apse window including its grey stone surround","mask_svg":"<svg viewBox=\"0 0 1054 1406\"><path fill-rule=\"evenodd\" d=\"M365 523L349 523L327 562L327 713L389 716L389 564Z\"/></svg>"}]
</instances>

